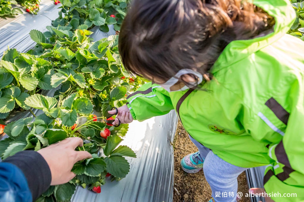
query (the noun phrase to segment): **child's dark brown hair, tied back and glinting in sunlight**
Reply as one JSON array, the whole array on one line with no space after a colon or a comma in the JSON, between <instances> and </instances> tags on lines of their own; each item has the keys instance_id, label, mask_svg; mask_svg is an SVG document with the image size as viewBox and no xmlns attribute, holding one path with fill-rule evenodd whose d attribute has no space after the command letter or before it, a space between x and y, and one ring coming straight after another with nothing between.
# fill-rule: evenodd
<instances>
[{"instance_id":1,"label":"child's dark brown hair, tied back and glinting in sunlight","mask_svg":"<svg viewBox=\"0 0 304 202\"><path fill-rule=\"evenodd\" d=\"M128 71L146 78L167 81L184 68L205 74L228 43L253 38L273 21L241 0L133 0L119 52Z\"/></svg>"}]
</instances>

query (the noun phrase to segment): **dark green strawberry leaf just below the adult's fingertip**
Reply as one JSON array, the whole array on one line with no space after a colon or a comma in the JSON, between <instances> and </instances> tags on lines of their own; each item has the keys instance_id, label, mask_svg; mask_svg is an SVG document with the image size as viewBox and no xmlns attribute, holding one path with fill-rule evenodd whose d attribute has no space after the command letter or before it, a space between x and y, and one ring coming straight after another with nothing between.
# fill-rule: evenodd
<instances>
[{"instance_id":1,"label":"dark green strawberry leaf just below the adult's fingertip","mask_svg":"<svg viewBox=\"0 0 304 202\"><path fill-rule=\"evenodd\" d=\"M106 168L105 161L101 158L90 158L86 165L85 174L93 177L100 175Z\"/></svg>"}]
</instances>

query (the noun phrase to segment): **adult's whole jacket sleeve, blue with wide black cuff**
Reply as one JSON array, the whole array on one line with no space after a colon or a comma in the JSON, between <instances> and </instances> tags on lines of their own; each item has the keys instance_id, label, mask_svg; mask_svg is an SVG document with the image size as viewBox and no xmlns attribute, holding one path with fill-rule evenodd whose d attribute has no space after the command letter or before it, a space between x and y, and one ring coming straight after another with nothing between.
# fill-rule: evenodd
<instances>
[{"instance_id":1,"label":"adult's whole jacket sleeve, blue with wide black cuff","mask_svg":"<svg viewBox=\"0 0 304 202\"><path fill-rule=\"evenodd\" d=\"M15 168L15 170L7 171L9 172L9 178L4 178L8 174L2 174L2 171L0 176L3 180L9 180L8 183L11 184L10 187L14 187L12 192L16 197L23 197L22 200L16 201L35 201L50 187L52 180L50 167L38 152L20 151L17 154L6 158L3 162L6 163L5 165L8 164ZM17 173L18 171L19 175L10 173L12 171L14 171L14 173ZM0 189L2 189L2 184L0 184ZM27 194L30 194L30 198L28 198ZM1 195L0 190L0 197ZM8 201L13 200L5 200L5 202ZM0 200L0 202L2 201Z\"/></svg>"}]
</instances>

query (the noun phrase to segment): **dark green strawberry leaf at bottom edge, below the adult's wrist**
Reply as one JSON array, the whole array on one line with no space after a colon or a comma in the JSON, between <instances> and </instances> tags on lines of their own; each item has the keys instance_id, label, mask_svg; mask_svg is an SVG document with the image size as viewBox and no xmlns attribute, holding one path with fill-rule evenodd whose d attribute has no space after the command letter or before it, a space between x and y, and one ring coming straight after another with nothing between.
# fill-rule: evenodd
<instances>
[{"instance_id":1,"label":"dark green strawberry leaf at bottom edge, below the adult's wrist","mask_svg":"<svg viewBox=\"0 0 304 202\"><path fill-rule=\"evenodd\" d=\"M64 0L66 1L66 0ZM56 185L55 198L59 202L70 200L76 190L76 186L71 183Z\"/></svg>"}]
</instances>

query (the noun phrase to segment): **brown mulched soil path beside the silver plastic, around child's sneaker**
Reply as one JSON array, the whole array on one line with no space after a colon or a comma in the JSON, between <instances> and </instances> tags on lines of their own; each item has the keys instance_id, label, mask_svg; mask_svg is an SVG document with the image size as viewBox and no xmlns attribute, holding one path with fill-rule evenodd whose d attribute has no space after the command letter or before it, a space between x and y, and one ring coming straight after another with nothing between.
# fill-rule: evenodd
<instances>
[{"instance_id":1,"label":"brown mulched soil path beside the silver plastic, around child's sneaker","mask_svg":"<svg viewBox=\"0 0 304 202\"><path fill-rule=\"evenodd\" d=\"M195 145L188 137L188 133L180 122L174 138L174 195L173 202L207 202L211 198L211 189L203 171L198 173L185 173L180 167L181 159L197 151ZM238 177L238 191L243 194L248 192L246 174L243 172ZM249 202L243 197L240 202Z\"/></svg>"}]
</instances>

